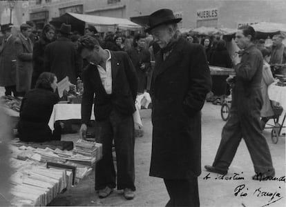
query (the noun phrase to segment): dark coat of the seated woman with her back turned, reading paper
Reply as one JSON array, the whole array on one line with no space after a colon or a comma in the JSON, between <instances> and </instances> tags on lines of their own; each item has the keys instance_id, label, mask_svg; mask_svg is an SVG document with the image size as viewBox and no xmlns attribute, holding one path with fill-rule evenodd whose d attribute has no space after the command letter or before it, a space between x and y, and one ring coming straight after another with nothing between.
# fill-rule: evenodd
<instances>
[{"instance_id":1,"label":"dark coat of the seated woman with her back turned, reading paper","mask_svg":"<svg viewBox=\"0 0 286 207\"><path fill-rule=\"evenodd\" d=\"M21 103L18 125L21 141L43 142L53 139L48 121L58 101L59 97L52 90L35 88L26 93Z\"/></svg>"}]
</instances>

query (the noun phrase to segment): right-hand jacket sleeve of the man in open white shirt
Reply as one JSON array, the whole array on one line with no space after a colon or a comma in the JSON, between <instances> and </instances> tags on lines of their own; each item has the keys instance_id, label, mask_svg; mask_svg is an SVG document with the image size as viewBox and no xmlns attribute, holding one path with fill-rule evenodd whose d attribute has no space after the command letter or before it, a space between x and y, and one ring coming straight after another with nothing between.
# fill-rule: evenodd
<instances>
[{"instance_id":1,"label":"right-hand jacket sleeve of the man in open white shirt","mask_svg":"<svg viewBox=\"0 0 286 207\"><path fill-rule=\"evenodd\" d=\"M126 53L124 53L124 69L126 72L129 87L132 92L133 101L135 102L137 96L138 78L133 63Z\"/></svg>"}]
</instances>

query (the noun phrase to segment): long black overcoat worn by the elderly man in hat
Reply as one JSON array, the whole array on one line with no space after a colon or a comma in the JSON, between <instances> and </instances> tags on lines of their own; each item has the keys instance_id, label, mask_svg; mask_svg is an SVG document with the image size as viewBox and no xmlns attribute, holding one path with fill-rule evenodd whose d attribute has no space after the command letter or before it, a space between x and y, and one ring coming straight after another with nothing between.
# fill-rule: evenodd
<instances>
[{"instance_id":1,"label":"long black overcoat worn by the elderly man in hat","mask_svg":"<svg viewBox=\"0 0 286 207\"><path fill-rule=\"evenodd\" d=\"M155 55L151 88L153 141L150 175L189 179L201 172L201 112L211 75L204 49L180 38L163 61Z\"/></svg>"}]
</instances>

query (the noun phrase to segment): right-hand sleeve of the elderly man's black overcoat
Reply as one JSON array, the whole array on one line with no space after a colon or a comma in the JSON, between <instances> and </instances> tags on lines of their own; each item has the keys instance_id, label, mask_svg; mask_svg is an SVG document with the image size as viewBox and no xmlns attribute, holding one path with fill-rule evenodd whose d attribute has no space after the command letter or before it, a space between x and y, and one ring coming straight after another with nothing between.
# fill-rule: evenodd
<instances>
[{"instance_id":1,"label":"right-hand sleeve of the elderly man's black overcoat","mask_svg":"<svg viewBox=\"0 0 286 207\"><path fill-rule=\"evenodd\" d=\"M189 67L189 89L183 101L184 111L190 117L202 109L207 93L211 90L211 73L204 48L197 45L191 53Z\"/></svg>"}]
</instances>

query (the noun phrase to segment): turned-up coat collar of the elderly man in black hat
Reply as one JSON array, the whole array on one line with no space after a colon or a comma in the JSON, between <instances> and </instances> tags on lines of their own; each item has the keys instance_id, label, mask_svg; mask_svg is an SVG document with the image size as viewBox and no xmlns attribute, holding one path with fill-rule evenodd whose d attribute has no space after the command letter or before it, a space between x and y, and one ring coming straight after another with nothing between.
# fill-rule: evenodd
<instances>
[{"instance_id":1,"label":"turned-up coat collar of the elderly man in black hat","mask_svg":"<svg viewBox=\"0 0 286 207\"><path fill-rule=\"evenodd\" d=\"M175 44L173 50L171 51L170 55L163 60L162 50L159 50L155 54L155 70L154 70L154 79L158 77L162 72L168 70L169 68L173 67L175 64L178 63L178 59L182 57L181 51L185 44L185 40L180 37L178 42Z\"/></svg>"}]
</instances>

